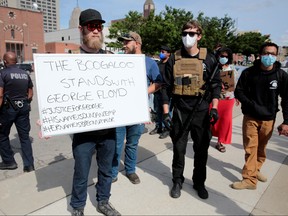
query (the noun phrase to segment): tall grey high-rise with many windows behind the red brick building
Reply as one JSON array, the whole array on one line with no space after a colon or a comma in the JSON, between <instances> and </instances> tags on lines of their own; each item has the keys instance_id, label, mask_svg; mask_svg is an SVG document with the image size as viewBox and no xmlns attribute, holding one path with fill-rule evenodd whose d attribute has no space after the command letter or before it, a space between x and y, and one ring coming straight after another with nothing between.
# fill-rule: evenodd
<instances>
[{"instance_id":1,"label":"tall grey high-rise with many windows behind the red brick building","mask_svg":"<svg viewBox=\"0 0 288 216\"><path fill-rule=\"evenodd\" d=\"M44 32L60 29L60 0L0 0L0 6L39 11L43 13Z\"/></svg>"}]
</instances>

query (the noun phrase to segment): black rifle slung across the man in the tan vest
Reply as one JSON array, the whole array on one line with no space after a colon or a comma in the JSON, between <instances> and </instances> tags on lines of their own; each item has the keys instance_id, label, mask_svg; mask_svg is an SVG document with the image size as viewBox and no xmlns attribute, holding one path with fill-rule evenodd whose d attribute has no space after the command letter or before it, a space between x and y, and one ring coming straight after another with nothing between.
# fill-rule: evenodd
<instances>
[{"instance_id":1,"label":"black rifle slung across the man in the tan vest","mask_svg":"<svg viewBox=\"0 0 288 216\"><path fill-rule=\"evenodd\" d=\"M219 64L216 65L212 75L210 76L210 79L208 81L208 83L205 83L204 85L204 94L201 95L201 97L199 98L197 104L194 106L193 110L191 111L191 113L189 113L189 116L188 118L186 119L186 121L184 122L183 124L183 130L182 132L178 133L178 135L176 136L176 142L180 139L180 137L188 130L192 120L194 119L194 116L196 114L196 112L198 111L198 108L200 107L200 105L202 104L203 100L205 98L208 97L208 94L209 94L209 88L210 89L213 89L213 88L216 88L217 86L213 86L211 87L211 82L213 80L213 78L215 77L215 75L217 74L218 72L218 68L219 68Z\"/></svg>"}]
</instances>

